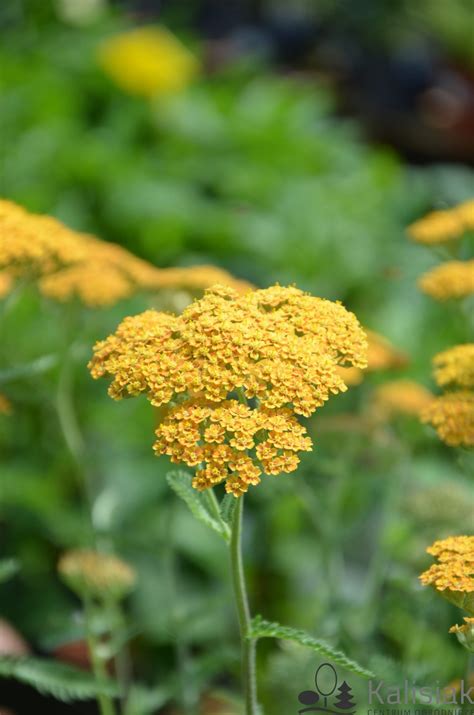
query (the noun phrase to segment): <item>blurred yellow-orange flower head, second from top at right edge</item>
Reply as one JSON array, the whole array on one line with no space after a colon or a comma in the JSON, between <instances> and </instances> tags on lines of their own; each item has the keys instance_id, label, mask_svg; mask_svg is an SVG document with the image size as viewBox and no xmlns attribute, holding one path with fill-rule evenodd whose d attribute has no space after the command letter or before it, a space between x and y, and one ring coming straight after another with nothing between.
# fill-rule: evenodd
<instances>
[{"instance_id":1,"label":"blurred yellow-orange flower head, second from top at right edge","mask_svg":"<svg viewBox=\"0 0 474 715\"><path fill-rule=\"evenodd\" d=\"M418 280L423 293L435 300L464 298L474 293L474 260L447 261Z\"/></svg>"}]
</instances>

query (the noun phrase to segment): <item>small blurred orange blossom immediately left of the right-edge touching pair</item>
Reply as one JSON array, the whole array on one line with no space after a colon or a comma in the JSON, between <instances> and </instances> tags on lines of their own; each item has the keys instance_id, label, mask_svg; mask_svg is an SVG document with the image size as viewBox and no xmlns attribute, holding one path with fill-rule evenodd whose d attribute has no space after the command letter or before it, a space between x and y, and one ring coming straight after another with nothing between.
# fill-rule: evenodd
<instances>
[{"instance_id":1,"label":"small blurred orange blossom immediately left of the right-edge touching pair","mask_svg":"<svg viewBox=\"0 0 474 715\"><path fill-rule=\"evenodd\" d=\"M375 410L386 417L397 414L418 417L432 400L431 392L414 380L385 382L374 393Z\"/></svg>"}]
</instances>

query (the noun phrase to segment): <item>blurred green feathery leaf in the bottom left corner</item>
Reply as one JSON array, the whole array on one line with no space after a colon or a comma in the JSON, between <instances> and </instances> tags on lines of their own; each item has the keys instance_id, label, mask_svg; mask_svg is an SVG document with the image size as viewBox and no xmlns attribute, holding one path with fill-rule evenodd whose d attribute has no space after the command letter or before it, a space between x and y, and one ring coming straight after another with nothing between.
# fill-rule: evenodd
<instances>
[{"instance_id":1,"label":"blurred green feathery leaf in the bottom left corner","mask_svg":"<svg viewBox=\"0 0 474 715\"><path fill-rule=\"evenodd\" d=\"M65 663L30 656L0 656L0 677L13 678L65 703L89 700L99 694L118 695L112 681L98 682L91 673Z\"/></svg>"}]
</instances>

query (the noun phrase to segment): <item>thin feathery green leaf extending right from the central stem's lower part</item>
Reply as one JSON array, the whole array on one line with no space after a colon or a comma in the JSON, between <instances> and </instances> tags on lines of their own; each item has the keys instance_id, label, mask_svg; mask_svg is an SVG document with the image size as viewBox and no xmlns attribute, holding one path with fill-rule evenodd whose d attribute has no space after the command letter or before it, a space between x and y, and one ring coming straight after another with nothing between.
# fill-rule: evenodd
<instances>
[{"instance_id":1,"label":"thin feathery green leaf extending right from the central stem's lower part","mask_svg":"<svg viewBox=\"0 0 474 715\"><path fill-rule=\"evenodd\" d=\"M345 653L333 648L329 643L314 638L309 635L309 633L305 633L305 631L282 626L280 623L270 623L270 621L265 621L261 616L256 616L252 620L248 637L279 638L281 640L293 641L294 643L299 643L307 648L311 648L311 650L328 658L333 663L336 663L336 665L340 665L341 668L345 668L351 673L356 673L356 675L361 675L364 678L375 677L374 673L370 670L366 670L366 668L363 668L359 663L348 658Z\"/></svg>"}]
</instances>

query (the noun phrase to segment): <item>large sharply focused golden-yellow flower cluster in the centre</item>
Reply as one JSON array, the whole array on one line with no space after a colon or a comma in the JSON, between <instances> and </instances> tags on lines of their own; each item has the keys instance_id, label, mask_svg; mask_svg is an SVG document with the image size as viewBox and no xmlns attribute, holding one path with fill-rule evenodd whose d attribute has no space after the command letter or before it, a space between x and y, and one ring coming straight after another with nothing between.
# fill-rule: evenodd
<instances>
[{"instance_id":1,"label":"large sharply focused golden-yellow flower cluster in the centre","mask_svg":"<svg viewBox=\"0 0 474 715\"><path fill-rule=\"evenodd\" d=\"M198 470L205 489L226 480L236 496L259 475L293 471L311 441L309 416L345 391L345 363L366 364L365 334L340 303L274 286L239 295L214 286L181 316L126 318L94 348L94 378L114 399L145 393L169 405L155 450ZM239 404L240 398L244 404Z\"/></svg>"}]
</instances>

